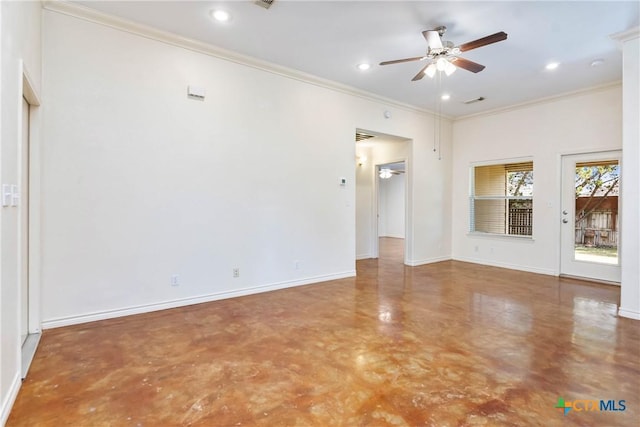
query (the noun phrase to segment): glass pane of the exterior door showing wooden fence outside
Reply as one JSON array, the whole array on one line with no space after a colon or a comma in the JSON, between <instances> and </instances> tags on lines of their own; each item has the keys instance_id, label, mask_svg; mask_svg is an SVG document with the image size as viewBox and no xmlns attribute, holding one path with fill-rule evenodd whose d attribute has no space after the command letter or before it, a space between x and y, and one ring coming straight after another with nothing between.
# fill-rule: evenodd
<instances>
[{"instance_id":1,"label":"glass pane of the exterior door showing wooden fence outside","mask_svg":"<svg viewBox=\"0 0 640 427\"><path fill-rule=\"evenodd\" d=\"M576 163L575 188L575 260L617 265L618 161Z\"/></svg>"}]
</instances>

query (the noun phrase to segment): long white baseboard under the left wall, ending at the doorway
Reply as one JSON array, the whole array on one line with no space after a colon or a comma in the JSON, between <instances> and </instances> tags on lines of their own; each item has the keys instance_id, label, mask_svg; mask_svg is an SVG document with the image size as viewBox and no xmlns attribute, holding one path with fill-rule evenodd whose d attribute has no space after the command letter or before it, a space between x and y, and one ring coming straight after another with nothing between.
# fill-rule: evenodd
<instances>
[{"instance_id":1,"label":"long white baseboard under the left wall, ending at the doorway","mask_svg":"<svg viewBox=\"0 0 640 427\"><path fill-rule=\"evenodd\" d=\"M236 289L226 292L218 292L215 294L199 295L196 297L182 298L160 303L144 304L126 307L116 310L104 310L89 314L81 314L78 316L61 317L57 319L44 320L42 329L61 328L63 326L78 325L81 323L95 322L98 320L113 319L116 317L131 316L134 314L150 313L152 311L167 310L170 308L184 307L193 304L202 304L205 302L218 301L228 298L241 297L246 295L258 294L262 292L276 291L278 289L293 288L296 286L310 285L313 283L328 282L330 280L344 279L354 277L355 270L345 271L336 274L327 274L323 276L307 277L298 280L289 280L284 282L270 283L267 285L254 286L251 288Z\"/></svg>"}]
</instances>

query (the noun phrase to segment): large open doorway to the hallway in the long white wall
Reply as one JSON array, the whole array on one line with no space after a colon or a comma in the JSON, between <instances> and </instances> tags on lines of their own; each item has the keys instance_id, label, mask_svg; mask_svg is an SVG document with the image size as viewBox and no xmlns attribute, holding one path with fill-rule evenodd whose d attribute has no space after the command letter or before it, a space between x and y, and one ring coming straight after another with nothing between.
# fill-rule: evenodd
<instances>
[{"instance_id":1,"label":"large open doorway to the hallway in the long white wall","mask_svg":"<svg viewBox=\"0 0 640 427\"><path fill-rule=\"evenodd\" d=\"M356 130L356 259L411 259L411 142Z\"/></svg>"}]
</instances>

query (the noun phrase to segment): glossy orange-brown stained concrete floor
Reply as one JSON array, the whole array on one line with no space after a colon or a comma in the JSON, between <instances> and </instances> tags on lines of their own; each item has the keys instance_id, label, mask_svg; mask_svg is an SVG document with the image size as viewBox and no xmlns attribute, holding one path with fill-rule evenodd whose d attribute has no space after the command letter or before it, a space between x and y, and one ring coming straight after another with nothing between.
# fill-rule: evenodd
<instances>
[{"instance_id":1,"label":"glossy orange-brown stained concrete floor","mask_svg":"<svg viewBox=\"0 0 640 427\"><path fill-rule=\"evenodd\" d=\"M7 425L639 425L618 288L401 245L353 279L47 330Z\"/></svg>"}]
</instances>

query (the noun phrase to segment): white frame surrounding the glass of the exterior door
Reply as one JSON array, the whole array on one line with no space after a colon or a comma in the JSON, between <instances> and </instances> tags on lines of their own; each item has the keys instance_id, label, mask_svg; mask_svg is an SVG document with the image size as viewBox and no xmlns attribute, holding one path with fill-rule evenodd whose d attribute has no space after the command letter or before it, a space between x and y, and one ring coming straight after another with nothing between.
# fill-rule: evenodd
<instances>
[{"instance_id":1,"label":"white frame surrounding the glass of the exterior door","mask_svg":"<svg viewBox=\"0 0 640 427\"><path fill-rule=\"evenodd\" d=\"M572 266L569 265L568 266L568 262L566 257L568 255L565 254L565 251L571 251L571 253L574 253L575 250L575 241L573 242L573 244L571 245L571 247L569 248L567 242L565 241L565 233L564 233L564 229L563 227L565 226L565 224L563 224L563 219L567 218L567 216L569 218L571 218L571 225L573 226L573 228L575 229L575 203L573 203L572 206L566 206L565 205L565 185L568 185L567 182L565 182L565 160L569 159L569 158L582 158L582 160L584 161L598 161L598 160L604 160L604 159L616 159L618 160L618 165L620 166L620 168L622 169L624 167L624 165L622 164L622 150L621 149L602 149L602 150L592 150L592 151L585 151L585 152L572 152L572 153L562 153L560 155L560 159L559 159L559 164L560 164L560 209L558 212L558 218L559 218L559 275L560 276L565 276L565 277L577 277L577 278L581 278L581 279L586 279L586 280L593 280L593 281L597 281L597 282L602 282L602 283L607 283L607 284L612 284L612 285L620 285L620 278L621 278L621 270L622 270L622 266L621 266L621 240L623 239L621 230L623 228L623 218L622 218L622 210L620 209L622 202L622 186L624 185L624 182L621 180L619 182L619 196L618 196L618 223L620 224L620 227L618 229L618 264L615 266L606 266L606 265L601 265L601 264L596 264L596 263L589 263L586 261L575 261L576 263L584 263L583 266L585 267L582 271L578 271L576 272L575 269L571 268ZM587 159L584 159L584 158ZM575 174L575 171L574 171ZM568 213L566 215L563 214L564 211L567 211ZM569 225L568 223L566 225ZM578 264L579 265L579 264ZM595 270L597 269L597 266L600 267L604 267L605 270L612 270L609 271L607 273L605 273L605 275L600 275L599 273L595 272ZM617 272L613 271L614 269L617 269ZM605 277L607 276L607 277Z\"/></svg>"}]
</instances>

